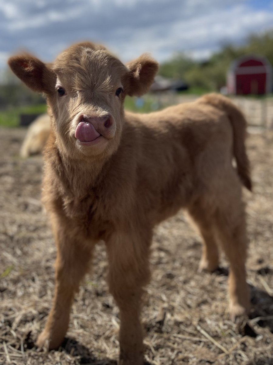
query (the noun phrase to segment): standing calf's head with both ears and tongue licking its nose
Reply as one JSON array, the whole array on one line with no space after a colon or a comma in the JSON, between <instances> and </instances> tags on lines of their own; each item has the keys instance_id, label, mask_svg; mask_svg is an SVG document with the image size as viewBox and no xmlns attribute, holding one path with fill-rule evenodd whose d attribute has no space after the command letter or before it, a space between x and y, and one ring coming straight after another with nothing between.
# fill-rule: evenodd
<instances>
[{"instance_id":1,"label":"standing calf's head with both ears and tongue licking its nose","mask_svg":"<svg viewBox=\"0 0 273 365\"><path fill-rule=\"evenodd\" d=\"M71 46L51 65L27 54L8 63L28 87L46 96L57 146L76 159L106 157L117 149L125 96L147 92L158 69L147 55L125 66L89 42Z\"/></svg>"}]
</instances>

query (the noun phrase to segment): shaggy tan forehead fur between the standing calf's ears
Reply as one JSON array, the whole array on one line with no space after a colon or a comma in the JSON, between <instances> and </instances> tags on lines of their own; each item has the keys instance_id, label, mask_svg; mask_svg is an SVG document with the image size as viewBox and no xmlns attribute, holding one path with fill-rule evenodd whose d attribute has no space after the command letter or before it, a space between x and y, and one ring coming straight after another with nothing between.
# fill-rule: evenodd
<instances>
[{"instance_id":1,"label":"shaggy tan forehead fur between the standing calf's ears","mask_svg":"<svg viewBox=\"0 0 273 365\"><path fill-rule=\"evenodd\" d=\"M75 45L61 53L53 65L61 82L74 91L112 92L123 85L128 69L104 47Z\"/></svg>"}]
</instances>

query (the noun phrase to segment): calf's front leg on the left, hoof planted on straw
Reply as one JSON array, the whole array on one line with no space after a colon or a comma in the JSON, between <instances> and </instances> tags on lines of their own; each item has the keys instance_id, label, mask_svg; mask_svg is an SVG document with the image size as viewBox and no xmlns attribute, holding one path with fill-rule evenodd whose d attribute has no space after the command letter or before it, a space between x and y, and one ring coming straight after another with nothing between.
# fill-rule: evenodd
<instances>
[{"instance_id":1,"label":"calf's front leg on the left, hoof planted on straw","mask_svg":"<svg viewBox=\"0 0 273 365\"><path fill-rule=\"evenodd\" d=\"M39 335L37 345L57 349L69 325L71 304L79 283L88 270L92 243L86 242L70 225L55 229L57 259L55 266L55 295L46 327Z\"/></svg>"}]
</instances>

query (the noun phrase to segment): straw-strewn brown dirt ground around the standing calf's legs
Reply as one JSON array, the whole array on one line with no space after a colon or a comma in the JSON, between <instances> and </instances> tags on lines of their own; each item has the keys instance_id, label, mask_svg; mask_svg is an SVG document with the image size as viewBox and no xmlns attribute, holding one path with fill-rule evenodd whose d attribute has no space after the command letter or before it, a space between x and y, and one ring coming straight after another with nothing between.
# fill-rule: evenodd
<instances>
[{"instance_id":1,"label":"straw-strewn brown dirt ground around the standing calf's legs","mask_svg":"<svg viewBox=\"0 0 273 365\"><path fill-rule=\"evenodd\" d=\"M42 158L19 158L26 131L0 130L0 364L117 364L118 309L98 245L75 298L66 341L38 351L54 291L56 250L40 203ZM254 192L245 192L253 309L238 326L227 313L227 269L198 273L201 243L183 212L155 230L143 323L147 364L273 365L273 135L251 134Z\"/></svg>"}]
</instances>

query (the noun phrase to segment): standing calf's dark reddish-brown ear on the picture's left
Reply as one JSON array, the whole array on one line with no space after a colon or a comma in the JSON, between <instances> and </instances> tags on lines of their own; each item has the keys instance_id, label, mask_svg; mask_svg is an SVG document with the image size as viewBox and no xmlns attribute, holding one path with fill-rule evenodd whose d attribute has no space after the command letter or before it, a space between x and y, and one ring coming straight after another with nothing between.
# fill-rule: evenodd
<instances>
[{"instance_id":1,"label":"standing calf's dark reddish-brown ear on the picture's left","mask_svg":"<svg viewBox=\"0 0 273 365\"><path fill-rule=\"evenodd\" d=\"M33 91L46 94L54 92L55 73L38 58L29 54L13 56L9 58L8 65Z\"/></svg>"}]
</instances>

